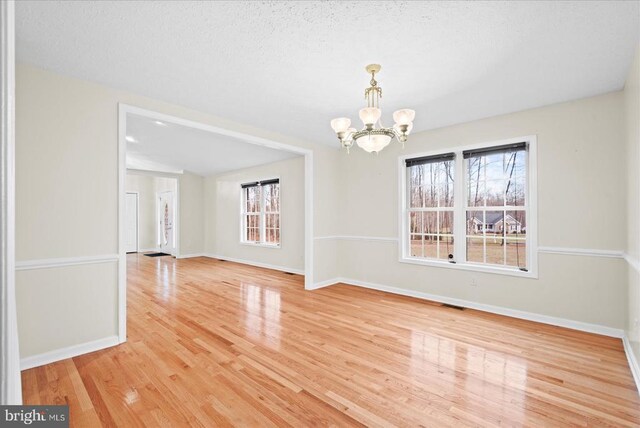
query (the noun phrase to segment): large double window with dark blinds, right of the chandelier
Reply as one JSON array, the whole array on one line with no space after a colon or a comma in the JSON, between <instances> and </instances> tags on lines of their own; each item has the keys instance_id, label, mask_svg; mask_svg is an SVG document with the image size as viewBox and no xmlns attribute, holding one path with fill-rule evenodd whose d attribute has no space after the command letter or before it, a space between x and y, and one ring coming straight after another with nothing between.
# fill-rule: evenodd
<instances>
[{"instance_id":1,"label":"large double window with dark blinds, right of the chandelier","mask_svg":"<svg viewBox=\"0 0 640 428\"><path fill-rule=\"evenodd\" d=\"M535 275L534 137L401 161L401 261Z\"/></svg>"}]
</instances>

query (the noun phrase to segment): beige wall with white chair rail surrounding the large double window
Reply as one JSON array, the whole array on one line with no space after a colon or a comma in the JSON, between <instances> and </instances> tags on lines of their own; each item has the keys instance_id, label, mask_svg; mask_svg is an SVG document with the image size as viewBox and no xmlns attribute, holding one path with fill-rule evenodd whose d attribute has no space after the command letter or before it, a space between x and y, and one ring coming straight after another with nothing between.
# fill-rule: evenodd
<instances>
[{"instance_id":1,"label":"beige wall with white chair rail surrounding the large double window","mask_svg":"<svg viewBox=\"0 0 640 428\"><path fill-rule=\"evenodd\" d=\"M539 246L625 247L626 174L621 92L413 135L404 150L343 156L342 276L421 293L622 329L626 312L621 258L540 254L539 279L398 262L398 157L537 135ZM475 279L477 286L471 286Z\"/></svg>"}]
</instances>

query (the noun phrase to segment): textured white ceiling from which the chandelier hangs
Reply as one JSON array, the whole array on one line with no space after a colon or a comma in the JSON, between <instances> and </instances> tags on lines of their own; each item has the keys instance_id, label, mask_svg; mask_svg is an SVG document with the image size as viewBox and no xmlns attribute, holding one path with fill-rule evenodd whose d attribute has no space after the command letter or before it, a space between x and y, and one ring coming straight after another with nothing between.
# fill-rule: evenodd
<instances>
[{"instance_id":1,"label":"textured white ceiling from which the chandelier hangs","mask_svg":"<svg viewBox=\"0 0 640 428\"><path fill-rule=\"evenodd\" d=\"M382 64L415 131L623 87L629 2L30 2L19 61L337 147ZM356 126L359 125L357 120ZM415 132L414 131L414 132Z\"/></svg>"}]
</instances>

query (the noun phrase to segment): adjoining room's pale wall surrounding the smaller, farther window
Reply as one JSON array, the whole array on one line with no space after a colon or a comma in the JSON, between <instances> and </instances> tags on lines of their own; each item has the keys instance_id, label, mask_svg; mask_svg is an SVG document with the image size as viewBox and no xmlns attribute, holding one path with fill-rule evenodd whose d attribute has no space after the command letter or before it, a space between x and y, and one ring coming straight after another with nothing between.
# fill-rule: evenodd
<instances>
[{"instance_id":1,"label":"adjoining room's pale wall surrounding the smaller, farther window","mask_svg":"<svg viewBox=\"0 0 640 428\"><path fill-rule=\"evenodd\" d=\"M240 243L240 185L280 178L280 248ZM304 158L208 177L205 185L206 253L292 272L304 271Z\"/></svg>"}]
</instances>

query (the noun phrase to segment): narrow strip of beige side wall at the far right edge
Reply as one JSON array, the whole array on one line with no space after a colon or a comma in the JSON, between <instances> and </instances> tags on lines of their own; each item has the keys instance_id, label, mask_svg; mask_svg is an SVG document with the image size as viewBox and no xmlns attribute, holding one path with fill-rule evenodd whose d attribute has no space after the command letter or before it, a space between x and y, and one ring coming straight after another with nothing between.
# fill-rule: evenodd
<instances>
[{"instance_id":1,"label":"narrow strip of beige side wall at the far right edge","mask_svg":"<svg viewBox=\"0 0 640 428\"><path fill-rule=\"evenodd\" d=\"M640 47L624 87L627 139L627 337L640 361Z\"/></svg>"}]
</instances>

